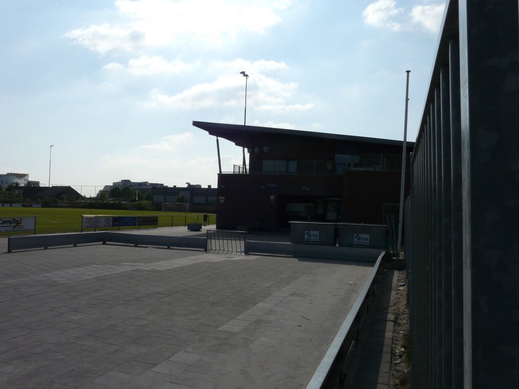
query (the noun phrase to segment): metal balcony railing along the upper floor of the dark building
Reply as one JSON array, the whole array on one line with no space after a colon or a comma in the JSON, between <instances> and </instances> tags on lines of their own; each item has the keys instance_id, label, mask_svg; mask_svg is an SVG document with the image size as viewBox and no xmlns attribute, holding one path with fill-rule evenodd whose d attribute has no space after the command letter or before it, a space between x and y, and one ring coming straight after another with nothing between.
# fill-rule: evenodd
<instances>
[{"instance_id":1,"label":"metal balcony railing along the upper floor of the dark building","mask_svg":"<svg viewBox=\"0 0 519 389\"><path fill-rule=\"evenodd\" d=\"M406 169L409 158L406 157ZM234 174L343 174L346 170L402 170L402 156L391 154L349 155L345 162L264 160L244 168L234 165Z\"/></svg>"}]
</instances>

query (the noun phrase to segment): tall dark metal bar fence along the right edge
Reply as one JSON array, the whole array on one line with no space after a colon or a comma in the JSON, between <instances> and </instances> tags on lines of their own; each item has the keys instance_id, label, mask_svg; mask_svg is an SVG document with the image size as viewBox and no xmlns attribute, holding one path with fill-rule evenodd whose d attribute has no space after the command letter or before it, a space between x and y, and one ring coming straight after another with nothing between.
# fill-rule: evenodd
<instances>
[{"instance_id":1,"label":"tall dark metal bar fence along the right edge","mask_svg":"<svg viewBox=\"0 0 519 389\"><path fill-rule=\"evenodd\" d=\"M445 4L406 204L413 388L519 387L518 14Z\"/></svg>"}]
</instances>

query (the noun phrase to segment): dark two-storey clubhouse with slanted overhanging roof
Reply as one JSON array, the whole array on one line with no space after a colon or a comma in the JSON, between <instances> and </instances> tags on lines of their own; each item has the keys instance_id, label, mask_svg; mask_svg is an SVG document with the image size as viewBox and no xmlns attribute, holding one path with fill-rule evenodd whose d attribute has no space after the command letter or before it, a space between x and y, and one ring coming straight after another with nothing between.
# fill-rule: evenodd
<instances>
[{"instance_id":1,"label":"dark two-storey clubhouse with slanted overhanging roof","mask_svg":"<svg viewBox=\"0 0 519 389\"><path fill-rule=\"evenodd\" d=\"M378 224L400 202L402 141L199 121L193 126L216 137L218 154L218 138L243 150L242 165L218 172L217 228L280 230L292 220ZM407 143L407 156L413 146ZM408 183L408 172L406 177ZM406 196L408 191L406 184Z\"/></svg>"}]
</instances>

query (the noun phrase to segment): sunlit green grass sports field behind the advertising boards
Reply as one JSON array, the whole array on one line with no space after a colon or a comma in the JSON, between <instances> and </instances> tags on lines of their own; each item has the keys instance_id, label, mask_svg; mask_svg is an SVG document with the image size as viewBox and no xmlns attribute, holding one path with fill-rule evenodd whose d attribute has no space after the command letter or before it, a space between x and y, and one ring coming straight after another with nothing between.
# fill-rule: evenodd
<instances>
[{"instance_id":1,"label":"sunlit green grass sports field behind the advertising boards","mask_svg":"<svg viewBox=\"0 0 519 389\"><path fill-rule=\"evenodd\" d=\"M203 223L203 214L160 211L123 211L123 210L91 210L81 208L6 208L0 207L0 217L36 216L36 233L47 234L56 232L81 231L81 215L158 215L158 227L185 226L187 223ZM216 216L209 215L209 224L216 223ZM137 227L127 227L136 229ZM124 229L127 229L124 228ZM148 228L148 227L143 227ZM113 228L116 230L117 228ZM123 228L121 228L123 229ZM110 229L108 229L110 230ZM89 230L92 231L92 230ZM28 234L19 232L17 234ZM10 232L0 232L0 236L8 236Z\"/></svg>"}]
</instances>

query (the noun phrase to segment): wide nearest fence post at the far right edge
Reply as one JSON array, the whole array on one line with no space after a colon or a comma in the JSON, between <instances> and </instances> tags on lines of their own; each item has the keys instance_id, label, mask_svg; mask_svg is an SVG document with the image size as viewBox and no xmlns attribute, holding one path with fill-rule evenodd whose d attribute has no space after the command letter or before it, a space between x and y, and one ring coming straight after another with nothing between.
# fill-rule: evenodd
<instances>
[{"instance_id":1,"label":"wide nearest fence post at the far right edge","mask_svg":"<svg viewBox=\"0 0 519 389\"><path fill-rule=\"evenodd\" d=\"M519 381L518 15L517 0L459 1L465 386L475 389Z\"/></svg>"}]
</instances>

